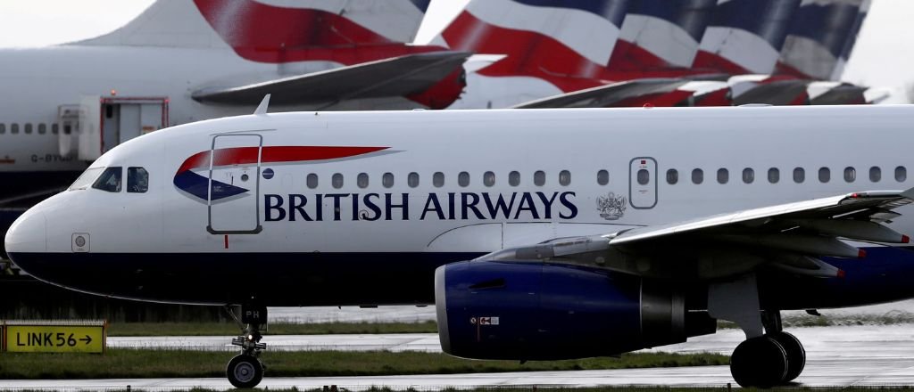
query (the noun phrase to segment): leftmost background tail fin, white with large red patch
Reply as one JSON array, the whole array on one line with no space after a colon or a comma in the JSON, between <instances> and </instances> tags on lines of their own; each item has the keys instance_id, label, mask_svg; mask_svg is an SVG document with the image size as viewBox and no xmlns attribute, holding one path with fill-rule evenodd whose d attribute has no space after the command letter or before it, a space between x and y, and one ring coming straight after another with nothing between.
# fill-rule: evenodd
<instances>
[{"instance_id":1,"label":"leftmost background tail fin, white with large red patch","mask_svg":"<svg viewBox=\"0 0 914 392\"><path fill-rule=\"evenodd\" d=\"M429 0L289 3L158 0L112 33L74 44L231 48L249 60L281 62L284 52L303 48L412 42Z\"/></svg>"}]
</instances>

